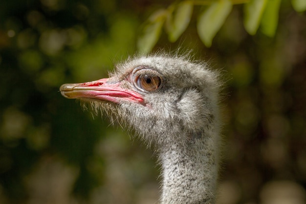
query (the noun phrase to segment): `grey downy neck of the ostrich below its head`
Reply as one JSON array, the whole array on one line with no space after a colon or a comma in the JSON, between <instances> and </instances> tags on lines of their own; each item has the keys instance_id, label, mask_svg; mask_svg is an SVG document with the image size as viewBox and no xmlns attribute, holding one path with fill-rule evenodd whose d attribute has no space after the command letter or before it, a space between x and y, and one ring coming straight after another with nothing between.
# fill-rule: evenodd
<instances>
[{"instance_id":1,"label":"grey downy neck of the ostrich below its head","mask_svg":"<svg viewBox=\"0 0 306 204\"><path fill-rule=\"evenodd\" d=\"M161 204L213 204L218 174L217 136L172 144L160 152L163 168Z\"/></svg>"}]
</instances>

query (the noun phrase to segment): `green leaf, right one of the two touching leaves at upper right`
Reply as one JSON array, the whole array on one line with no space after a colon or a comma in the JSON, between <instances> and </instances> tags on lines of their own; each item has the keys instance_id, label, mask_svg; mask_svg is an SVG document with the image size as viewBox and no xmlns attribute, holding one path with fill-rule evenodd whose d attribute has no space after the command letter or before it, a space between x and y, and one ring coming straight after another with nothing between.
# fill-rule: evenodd
<instances>
[{"instance_id":1,"label":"green leaf, right one of the two touching leaves at upper right","mask_svg":"<svg viewBox=\"0 0 306 204\"><path fill-rule=\"evenodd\" d=\"M306 0L305 0L306 1ZM268 0L262 14L261 30L266 36L273 37L278 24L281 0Z\"/></svg>"}]
</instances>

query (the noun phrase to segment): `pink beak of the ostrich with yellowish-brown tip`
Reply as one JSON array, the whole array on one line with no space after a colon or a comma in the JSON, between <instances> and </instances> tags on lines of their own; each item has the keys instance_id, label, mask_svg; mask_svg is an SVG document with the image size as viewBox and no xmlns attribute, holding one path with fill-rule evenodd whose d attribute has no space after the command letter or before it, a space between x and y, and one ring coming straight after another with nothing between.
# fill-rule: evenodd
<instances>
[{"instance_id":1,"label":"pink beak of the ostrich with yellowish-brown tip","mask_svg":"<svg viewBox=\"0 0 306 204\"><path fill-rule=\"evenodd\" d=\"M109 79L85 83L66 83L60 87L60 91L67 99L94 99L114 103L120 103L123 100L145 103L142 95L122 88L121 82L110 82Z\"/></svg>"}]
</instances>

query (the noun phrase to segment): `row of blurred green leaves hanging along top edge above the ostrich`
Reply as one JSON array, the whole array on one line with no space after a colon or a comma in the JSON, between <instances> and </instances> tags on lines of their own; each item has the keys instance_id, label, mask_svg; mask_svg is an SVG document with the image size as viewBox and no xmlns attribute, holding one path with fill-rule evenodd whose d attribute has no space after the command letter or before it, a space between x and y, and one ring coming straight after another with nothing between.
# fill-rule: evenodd
<instances>
[{"instance_id":1,"label":"row of blurred green leaves hanging along top edge above the ostrich","mask_svg":"<svg viewBox=\"0 0 306 204\"><path fill-rule=\"evenodd\" d=\"M284 0L286 1L286 0ZM206 7L198 15L197 33L205 46L210 47L217 32L224 24L234 4L243 4L243 23L250 35L255 35L261 25L262 33L274 37L278 25L281 0L182 0L167 9L153 12L138 39L140 53L149 53L160 37L163 24L169 41L175 42L187 29L194 6ZM306 10L304 0L291 0L297 12Z\"/></svg>"}]
</instances>

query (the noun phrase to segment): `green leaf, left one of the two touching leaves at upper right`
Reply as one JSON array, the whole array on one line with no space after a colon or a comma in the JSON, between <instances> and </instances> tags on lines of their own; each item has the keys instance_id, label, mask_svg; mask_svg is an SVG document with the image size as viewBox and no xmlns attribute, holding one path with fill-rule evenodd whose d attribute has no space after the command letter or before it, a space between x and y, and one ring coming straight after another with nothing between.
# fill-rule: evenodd
<instances>
[{"instance_id":1,"label":"green leaf, left one of the two touching leaves at upper right","mask_svg":"<svg viewBox=\"0 0 306 204\"><path fill-rule=\"evenodd\" d=\"M267 0L250 0L244 4L243 24L250 35L255 35L258 30L266 2Z\"/></svg>"}]
</instances>

